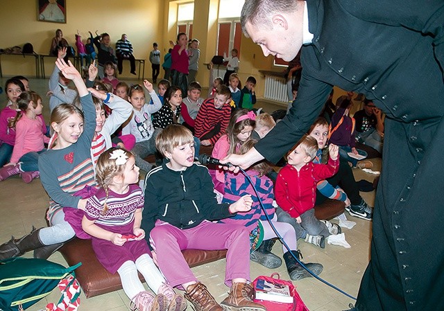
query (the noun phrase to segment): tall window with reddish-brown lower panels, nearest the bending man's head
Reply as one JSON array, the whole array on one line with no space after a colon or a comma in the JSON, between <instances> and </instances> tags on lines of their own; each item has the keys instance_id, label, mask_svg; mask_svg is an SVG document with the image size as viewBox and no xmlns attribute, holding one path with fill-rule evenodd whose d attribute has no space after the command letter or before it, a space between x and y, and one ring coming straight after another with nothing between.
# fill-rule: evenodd
<instances>
[{"instance_id":1,"label":"tall window with reddish-brown lower panels, nearest the bending man's head","mask_svg":"<svg viewBox=\"0 0 444 311\"><path fill-rule=\"evenodd\" d=\"M216 54L223 55L225 59L231 56L236 48L240 56L241 48L241 10L244 0L221 0L219 2L219 23L217 34Z\"/></svg>"}]
</instances>

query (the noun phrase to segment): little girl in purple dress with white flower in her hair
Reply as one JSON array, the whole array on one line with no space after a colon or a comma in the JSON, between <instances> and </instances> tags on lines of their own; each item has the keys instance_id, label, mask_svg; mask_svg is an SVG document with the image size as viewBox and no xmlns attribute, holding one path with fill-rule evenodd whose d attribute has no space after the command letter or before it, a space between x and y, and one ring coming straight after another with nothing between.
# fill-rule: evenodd
<instances>
[{"instance_id":1,"label":"little girl in purple dress with white flower in her hair","mask_svg":"<svg viewBox=\"0 0 444 311\"><path fill-rule=\"evenodd\" d=\"M133 154L117 148L103 152L96 179L100 188L87 200L82 229L91 236L99 263L111 274L119 273L123 292L138 310L167 310L167 305L168 310L185 310L187 302L153 263L140 229L144 197ZM146 292L137 271L157 295Z\"/></svg>"}]
</instances>

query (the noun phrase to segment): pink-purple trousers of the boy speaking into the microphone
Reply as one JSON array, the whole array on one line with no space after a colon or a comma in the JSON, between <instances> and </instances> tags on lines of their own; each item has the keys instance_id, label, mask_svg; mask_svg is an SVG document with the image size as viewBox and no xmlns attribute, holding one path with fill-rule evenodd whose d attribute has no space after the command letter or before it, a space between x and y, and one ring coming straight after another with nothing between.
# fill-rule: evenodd
<instances>
[{"instance_id":1,"label":"pink-purple trousers of the boy speaking into the microphone","mask_svg":"<svg viewBox=\"0 0 444 311\"><path fill-rule=\"evenodd\" d=\"M182 256L182 249L227 249L225 285L231 286L234 278L250 281L248 235L248 229L239 224L215 224L204 220L194 228L182 230L157 220L150 233L150 242L160 271L173 287L198 281Z\"/></svg>"}]
</instances>

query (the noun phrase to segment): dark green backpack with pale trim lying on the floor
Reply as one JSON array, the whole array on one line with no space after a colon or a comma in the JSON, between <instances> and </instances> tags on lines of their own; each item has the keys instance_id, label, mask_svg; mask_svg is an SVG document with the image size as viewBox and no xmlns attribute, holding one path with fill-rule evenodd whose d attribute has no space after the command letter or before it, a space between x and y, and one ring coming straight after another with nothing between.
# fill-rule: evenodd
<instances>
[{"instance_id":1,"label":"dark green backpack with pale trim lying on the floor","mask_svg":"<svg viewBox=\"0 0 444 311\"><path fill-rule=\"evenodd\" d=\"M65 268L37 258L10 258L0 262L0 311L26 309L49 295L59 281L75 276L78 263Z\"/></svg>"}]
</instances>

